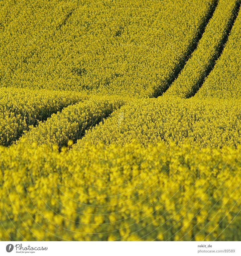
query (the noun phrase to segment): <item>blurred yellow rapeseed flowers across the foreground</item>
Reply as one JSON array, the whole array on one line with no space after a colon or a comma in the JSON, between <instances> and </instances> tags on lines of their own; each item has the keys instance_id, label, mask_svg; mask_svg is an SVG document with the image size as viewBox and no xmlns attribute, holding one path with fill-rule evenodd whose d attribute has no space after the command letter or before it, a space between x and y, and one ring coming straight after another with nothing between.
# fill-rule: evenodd
<instances>
[{"instance_id":1,"label":"blurred yellow rapeseed flowers across the foreground","mask_svg":"<svg viewBox=\"0 0 241 256\"><path fill-rule=\"evenodd\" d=\"M241 148L212 151L0 147L0 240L240 241Z\"/></svg>"}]
</instances>

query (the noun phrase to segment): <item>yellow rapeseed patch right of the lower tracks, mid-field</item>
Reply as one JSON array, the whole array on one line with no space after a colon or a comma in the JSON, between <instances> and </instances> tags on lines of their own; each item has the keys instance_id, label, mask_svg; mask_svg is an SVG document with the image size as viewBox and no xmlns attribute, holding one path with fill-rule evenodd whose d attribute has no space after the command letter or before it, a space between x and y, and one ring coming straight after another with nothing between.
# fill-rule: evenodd
<instances>
[{"instance_id":1,"label":"yellow rapeseed patch right of the lower tracks, mid-field","mask_svg":"<svg viewBox=\"0 0 241 256\"><path fill-rule=\"evenodd\" d=\"M133 139L145 147L159 141L168 146L172 141L182 144L186 138L193 147L236 147L241 142L240 113L240 100L174 97L133 100L87 131L74 148L80 150L86 141L95 145L101 141L105 145L124 145Z\"/></svg>"}]
</instances>

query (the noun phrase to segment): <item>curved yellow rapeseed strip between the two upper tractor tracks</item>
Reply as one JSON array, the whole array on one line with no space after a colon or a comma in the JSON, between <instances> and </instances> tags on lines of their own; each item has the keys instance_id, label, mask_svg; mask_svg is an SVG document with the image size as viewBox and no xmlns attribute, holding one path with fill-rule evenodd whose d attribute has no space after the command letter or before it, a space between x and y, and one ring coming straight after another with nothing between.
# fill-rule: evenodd
<instances>
[{"instance_id":1,"label":"curved yellow rapeseed strip between the two upper tractor tracks","mask_svg":"<svg viewBox=\"0 0 241 256\"><path fill-rule=\"evenodd\" d=\"M236 0L221 0L209 21L197 49L164 96L192 97L221 55L239 11Z\"/></svg>"}]
</instances>

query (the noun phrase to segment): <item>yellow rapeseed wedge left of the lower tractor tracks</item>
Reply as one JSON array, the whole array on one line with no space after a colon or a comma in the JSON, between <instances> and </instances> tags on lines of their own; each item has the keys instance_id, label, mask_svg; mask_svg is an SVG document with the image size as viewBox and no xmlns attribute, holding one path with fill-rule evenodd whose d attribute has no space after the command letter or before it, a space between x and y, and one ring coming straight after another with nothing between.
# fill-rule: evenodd
<instances>
[{"instance_id":1,"label":"yellow rapeseed wedge left of the lower tractor tracks","mask_svg":"<svg viewBox=\"0 0 241 256\"><path fill-rule=\"evenodd\" d=\"M88 97L83 92L0 88L0 144L12 144L30 125Z\"/></svg>"}]
</instances>

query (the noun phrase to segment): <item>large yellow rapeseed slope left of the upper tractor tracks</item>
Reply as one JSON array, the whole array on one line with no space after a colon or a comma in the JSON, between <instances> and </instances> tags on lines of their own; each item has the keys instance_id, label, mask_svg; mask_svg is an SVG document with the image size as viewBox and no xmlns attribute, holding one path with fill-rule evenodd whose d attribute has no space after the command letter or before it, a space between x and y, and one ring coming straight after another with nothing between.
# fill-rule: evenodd
<instances>
[{"instance_id":1,"label":"large yellow rapeseed slope left of the upper tractor tracks","mask_svg":"<svg viewBox=\"0 0 241 256\"><path fill-rule=\"evenodd\" d=\"M180 71L217 0L14 2L0 3L2 86L153 96Z\"/></svg>"}]
</instances>

